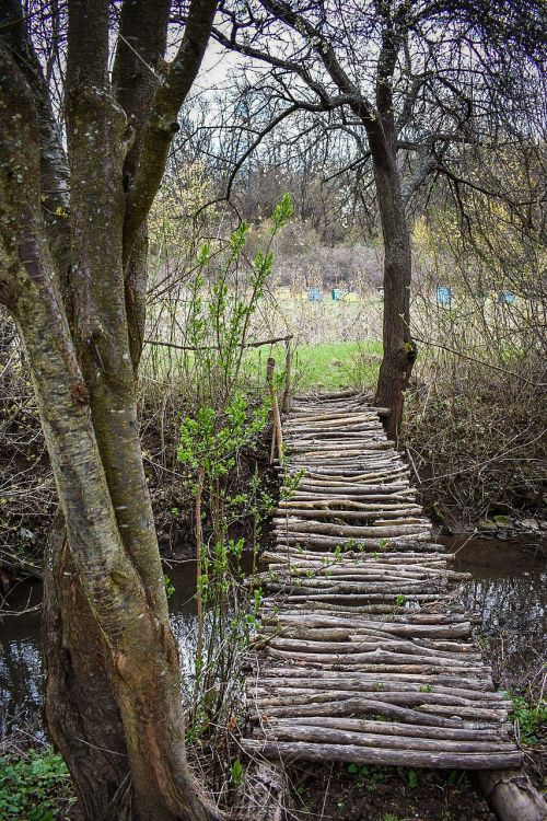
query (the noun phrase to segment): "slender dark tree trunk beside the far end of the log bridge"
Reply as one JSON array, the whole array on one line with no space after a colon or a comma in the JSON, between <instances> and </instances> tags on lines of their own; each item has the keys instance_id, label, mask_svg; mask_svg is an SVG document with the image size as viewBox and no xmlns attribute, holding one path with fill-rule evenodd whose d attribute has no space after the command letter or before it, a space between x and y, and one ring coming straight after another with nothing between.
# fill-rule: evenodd
<instances>
[{"instance_id":1,"label":"slender dark tree trunk beside the far end of the log bridge","mask_svg":"<svg viewBox=\"0 0 547 821\"><path fill-rule=\"evenodd\" d=\"M376 405L389 408L384 425L389 439L396 441L404 392L417 350L410 335L410 231L394 151L387 149L374 157L374 180L384 240L384 352L374 401Z\"/></svg>"}]
</instances>

